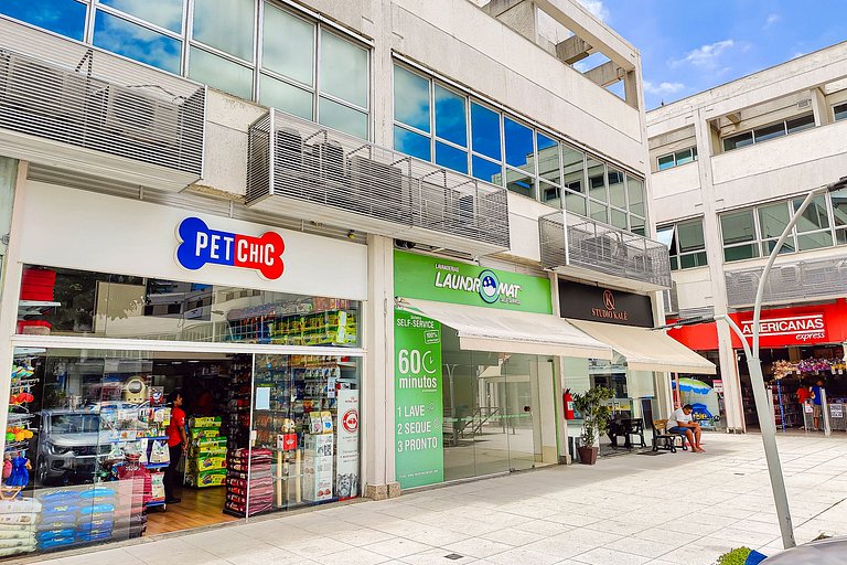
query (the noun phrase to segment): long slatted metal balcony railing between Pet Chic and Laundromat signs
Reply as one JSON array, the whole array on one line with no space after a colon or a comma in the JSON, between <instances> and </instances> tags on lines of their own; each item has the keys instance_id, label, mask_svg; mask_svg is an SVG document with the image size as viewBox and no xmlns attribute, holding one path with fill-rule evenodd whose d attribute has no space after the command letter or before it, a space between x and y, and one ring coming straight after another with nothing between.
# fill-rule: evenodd
<instances>
[{"instance_id":1,"label":"long slatted metal balcony railing between Pet Chic and Laundromat signs","mask_svg":"<svg viewBox=\"0 0 847 565\"><path fill-rule=\"evenodd\" d=\"M473 254L510 246L505 189L274 109L250 126L247 205Z\"/></svg>"}]
</instances>

